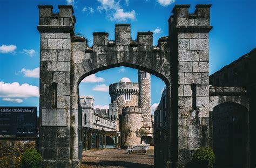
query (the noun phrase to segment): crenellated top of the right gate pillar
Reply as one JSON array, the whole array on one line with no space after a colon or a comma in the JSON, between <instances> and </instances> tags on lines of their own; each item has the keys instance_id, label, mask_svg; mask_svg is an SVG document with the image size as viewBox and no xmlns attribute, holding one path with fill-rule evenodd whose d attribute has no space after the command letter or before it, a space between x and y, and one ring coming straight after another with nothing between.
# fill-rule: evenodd
<instances>
[{"instance_id":1,"label":"crenellated top of the right gate pillar","mask_svg":"<svg viewBox=\"0 0 256 168\"><path fill-rule=\"evenodd\" d=\"M210 31L210 8L211 4L196 5L194 13L189 13L190 5L175 5L172 15L169 18L169 27L171 31L174 29L206 29Z\"/></svg>"}]
</instances>

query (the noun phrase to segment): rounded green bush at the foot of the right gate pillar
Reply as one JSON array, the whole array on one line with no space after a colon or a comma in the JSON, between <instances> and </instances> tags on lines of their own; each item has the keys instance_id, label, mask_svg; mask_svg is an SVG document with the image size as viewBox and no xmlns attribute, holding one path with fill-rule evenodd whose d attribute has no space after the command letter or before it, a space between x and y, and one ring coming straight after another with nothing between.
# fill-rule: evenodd
<instances>
[{"instance_id":1,"label":"rounded green bush at the foot of the right gate pillar","mask_svg":"<svg viewBox=\"0 0 256 168\"><path fill-rule=\"evenodd\" d=\"M212 166L215 162L215 155L209 146L200 147L193 156L193 161L200 167Z\"/></svg>"}]
</instances>

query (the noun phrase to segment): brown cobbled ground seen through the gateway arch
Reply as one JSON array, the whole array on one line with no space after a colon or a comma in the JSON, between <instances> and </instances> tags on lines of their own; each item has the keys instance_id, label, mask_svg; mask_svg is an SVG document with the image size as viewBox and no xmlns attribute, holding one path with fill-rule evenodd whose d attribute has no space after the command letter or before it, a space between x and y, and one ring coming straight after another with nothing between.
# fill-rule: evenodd
<instances>
[{"instance_id":1,"label":"brown cobbled ground seen through the gateway arch","mask_svg":"<svg viewBox=\"0 0 256 168\"><path fill-rule=\"evenodd\" d=\"M87 167L153 167L154 150L151 147L147 155L127 154L126 150L105 149L83 152L81 168Z\"/></svg>"}]
</instances>

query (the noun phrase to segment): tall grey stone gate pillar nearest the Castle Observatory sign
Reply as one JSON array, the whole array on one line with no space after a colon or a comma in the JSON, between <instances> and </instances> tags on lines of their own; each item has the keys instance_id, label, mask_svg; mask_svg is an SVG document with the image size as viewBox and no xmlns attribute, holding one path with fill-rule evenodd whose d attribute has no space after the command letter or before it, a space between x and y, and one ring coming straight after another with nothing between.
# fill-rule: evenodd
<instances>
[{"instance_id":1,"label":"tall grey stone gate pillar nearest the Castle Observatory sign","mask_svg":"<svg viewBox=\"0 0 256 168\"><path fill-rule=\"evenodd\" d=\"M40 144L44 167L71 167L70 51L75 19L71 5L39 5ZM79 163L78 163L79 164Z\"/></svg>"}]
</instances>

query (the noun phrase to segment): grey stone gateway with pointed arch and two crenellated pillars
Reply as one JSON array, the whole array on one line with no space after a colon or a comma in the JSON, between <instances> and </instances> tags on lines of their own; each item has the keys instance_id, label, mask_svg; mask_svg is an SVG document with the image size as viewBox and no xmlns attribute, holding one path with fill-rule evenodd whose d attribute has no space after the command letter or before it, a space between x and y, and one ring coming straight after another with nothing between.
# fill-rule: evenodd
<instances>
[{"instance_id":1,"label":"grey stone gateway with pointed arch and two crenellated pillars","mask_svg":"<svg viewBox=\"0 0 256 168\"><path fill-rule=\"evenodd\" d=\"M233 102L248 111L244 89L210 89L211 5L196 5L193 14L188 13L189 7L174 6L168 20L169 36L160 38L158 46L152 44L152 32L138 32L137 40L133 41L130 24L116 24L114 41L108 39L108 33L94 32L93 46L89 47L85 38L74 34L76 18L72 5L59 5L59 13L52 13L51 5L38 6L37 28L41 34L39 152L44 167L79 167L82 114L78 85L86 76L104 69L137 68L165 82L167 143L163 148L167 150L166 160L173 167L184 167L196 149L212 144L209 118L215 106ZM215 111L218 115L220 110ZM158 155L156 153L155 158ZM248 157L246 160L248 163Z\"/></svg>"}]
</instances>

